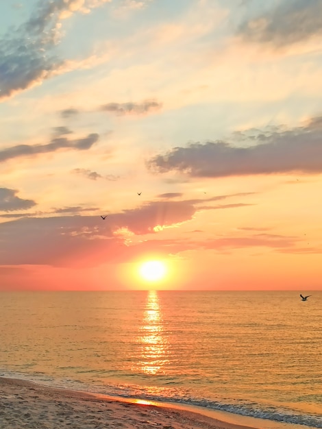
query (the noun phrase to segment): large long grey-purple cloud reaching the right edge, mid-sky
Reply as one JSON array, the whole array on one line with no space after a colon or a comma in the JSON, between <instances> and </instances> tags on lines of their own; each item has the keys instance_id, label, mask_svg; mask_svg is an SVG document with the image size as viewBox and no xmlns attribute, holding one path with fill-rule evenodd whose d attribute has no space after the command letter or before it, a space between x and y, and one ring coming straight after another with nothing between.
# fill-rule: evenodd
<instances>
[{"instance_id":1,"label":"large long grey-purple cloud reaching the right edge, mid-sky","mask_svg":"<svg viewBox=\"0 0 322 429\"><path fill-rule=\"evenodd\" d=\"M322 117L307 125L244 133L248 147L225 141L174 147L147 162L151 170L181 171L193 177L225 177L270 173L322 173Z\"/></svg>"}]
</instances>

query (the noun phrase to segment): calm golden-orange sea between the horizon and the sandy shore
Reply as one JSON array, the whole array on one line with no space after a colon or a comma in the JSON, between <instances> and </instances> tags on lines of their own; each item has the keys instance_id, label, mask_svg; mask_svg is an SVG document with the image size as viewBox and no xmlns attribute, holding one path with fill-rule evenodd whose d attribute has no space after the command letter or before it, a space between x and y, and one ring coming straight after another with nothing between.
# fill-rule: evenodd
<instances>
[{"instance_id":1,"label":"calm golden-orange sea between the horizon and the sandy shore","mask_svg":"<svg viewBox=\"0 0 322 429\"><path fill-rule=\"evenodd\" d=\"M322 428L322 293L306 295L3 292L0 375Z\"/></svg>"}]
</instances>

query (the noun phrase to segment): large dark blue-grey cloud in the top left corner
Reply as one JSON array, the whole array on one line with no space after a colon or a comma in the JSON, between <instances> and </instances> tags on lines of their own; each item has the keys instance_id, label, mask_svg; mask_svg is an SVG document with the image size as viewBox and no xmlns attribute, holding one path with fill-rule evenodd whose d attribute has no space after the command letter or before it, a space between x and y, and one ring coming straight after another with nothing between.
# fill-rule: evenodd
<instances>
[{"instance_id":1,"label":"large dark blue-grey cloud in the top left corner","mask_svg":"<svg viewBox=\"0 0 322 429\"><path fill-rule=\"evenodd\" d=\"M29 20L0 40L0 99L62 73L66 61L55 53L62 20L75 12L88 13L106 1L110 0L38 1Z\"/></svg>"}]
</instances>

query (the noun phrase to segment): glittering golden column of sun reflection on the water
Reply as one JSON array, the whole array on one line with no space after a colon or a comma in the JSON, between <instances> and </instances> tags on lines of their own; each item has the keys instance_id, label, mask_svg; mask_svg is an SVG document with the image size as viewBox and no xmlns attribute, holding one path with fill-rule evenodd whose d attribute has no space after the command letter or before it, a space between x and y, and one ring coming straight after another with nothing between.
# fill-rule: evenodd
<instances>
[{"instance_id":1,"label":"glittering golden column of sun reflection on the water","mask_svg":"<svg viewBox=\"0 0 322 429\"><path fill-rule=\"evenodd\" d=\"M167 362L166 356L168 354L157 291L149 291L140 332L142 332L139 337L142 345L140 370L146 374L156 374Z\"/></svg>"}]
</instances>

